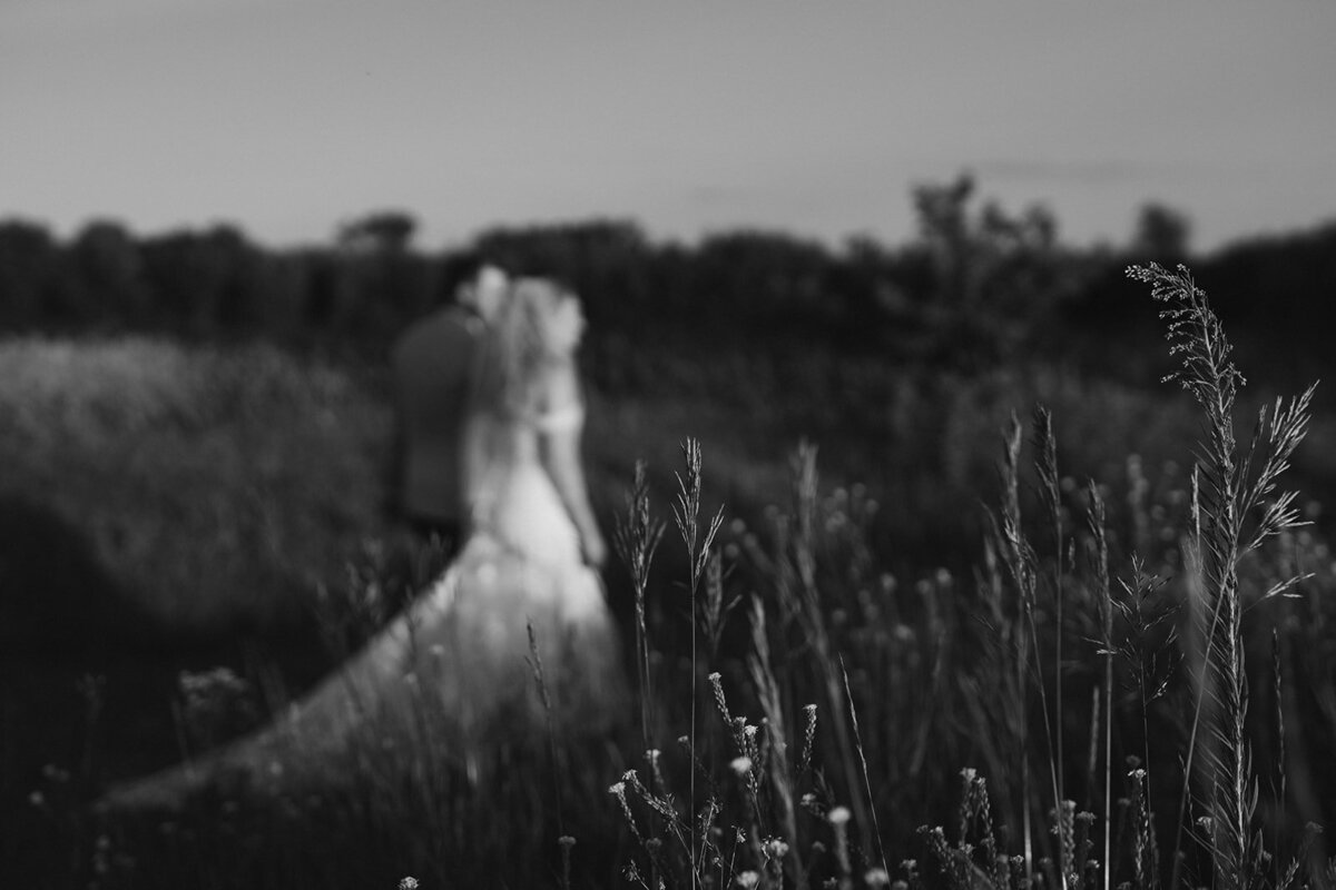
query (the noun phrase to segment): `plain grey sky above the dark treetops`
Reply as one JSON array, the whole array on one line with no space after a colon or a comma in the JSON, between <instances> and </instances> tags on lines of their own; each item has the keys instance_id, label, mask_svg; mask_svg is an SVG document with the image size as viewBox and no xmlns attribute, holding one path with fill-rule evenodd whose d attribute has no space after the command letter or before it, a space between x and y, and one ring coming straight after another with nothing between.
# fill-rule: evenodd
<instances>
[{"instance_id":1,"label":"plain grey sky above the dark treetops","mask_svg":"<svg viewBox=\"0 0 1336 890\"><path fill-rule=\"evenodd\" d=\"M1336 3L4 0L0 219L420 247L635 220L832 246L974 173L1073 244L1336 217Z\"/></svg>"}]
</instances>

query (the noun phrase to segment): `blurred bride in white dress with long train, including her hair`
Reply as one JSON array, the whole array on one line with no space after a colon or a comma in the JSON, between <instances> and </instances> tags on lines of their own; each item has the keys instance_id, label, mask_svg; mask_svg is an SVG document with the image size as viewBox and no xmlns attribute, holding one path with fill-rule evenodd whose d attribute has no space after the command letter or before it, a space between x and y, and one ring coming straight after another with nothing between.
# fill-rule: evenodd
<instances>
[{"instance_id":1,"label":"blurred bride in white dress with long train, including her hair","mask_svg":"<svg viewBox=\"0 0 1336 890\"><path fill-rule=\"evenodd\" d=\"M545 731L548 719L607 726L623 690L597 572L607 544L580 462L584 324L574 294L546 279L514 282L473 372L461 450L470 518L454 563L271 726L114 787L99 809L179 809L206 790L319 789L369 753L405 746L441 751L476 777L481 753Z\"/></svg>"}]
</instances>

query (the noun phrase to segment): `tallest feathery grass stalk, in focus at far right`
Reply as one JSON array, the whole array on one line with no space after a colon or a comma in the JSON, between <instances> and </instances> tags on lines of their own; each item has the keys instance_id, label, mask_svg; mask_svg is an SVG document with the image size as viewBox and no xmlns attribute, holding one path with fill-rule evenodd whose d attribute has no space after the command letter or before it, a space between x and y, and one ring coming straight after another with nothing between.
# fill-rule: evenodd
<instances>
[{"instance_id":1,"label":"tallest feathery grass stalk, in focus at far right","mask_svg":"<svg viewBox=\"0 0 1336 890\"><path fill-rule=\"evenodd\" d=\"M1174 272L1157 264L1134 266L1128 275L1149 284L1152 298L1165 304L1160 315L1168 324L1169 351L1181 356L1181 368L1166 380L1181 383L1205 412L1205 436L1198 444L1194 470L1196 534L1190 542L1196 575L1192 590L1200 598L1194 630L1201 635L1204 651L1196 677L1193 738L1198 737L1202 722L1205 730L1201 745L1194 745L1188 757L1204 761L1204 834L1216 881L1226 890L1246 890L1260 883L1264 858L1253 822L1257 778L1245 725L1245 603L1238 566L1245 554L1268 538L1303 524L1293 507L1295 492L1268 498L1307 431L1313 387L1289 402L1277 399L1269 412L1264 407L1252 442L1241 450L1233 414L1245 380L1230 359L1232 346L1205 292L1184 266ZM1261 599L1284 594L1297 580L1291 576L1279 582ZM1184 815L1180 814L1180 831ZM1177 886L1177 849L1174 865L1173 886Z\"/></svg>"}]
</instances>

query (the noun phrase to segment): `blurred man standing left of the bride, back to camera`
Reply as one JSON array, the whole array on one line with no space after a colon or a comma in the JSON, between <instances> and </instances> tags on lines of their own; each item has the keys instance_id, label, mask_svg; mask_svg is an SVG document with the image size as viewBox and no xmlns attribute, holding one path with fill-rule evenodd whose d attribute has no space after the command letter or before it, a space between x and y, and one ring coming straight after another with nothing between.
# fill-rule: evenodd
<instances>
[{"instance_id":1,"label":"blurred man standing left of the bride, back to camera","mask_svg":"<svg viewBox=\"0 0 1336 890\"><path fill-rule=\"evenodd\" d=\"M454 302L415 322L390 352L397 410L395 500L424 538L453 552L464 504L460 436L473 356L505 299L509 278L480 256L466 256L452 276Z\"/></svg>"}]
</instances>

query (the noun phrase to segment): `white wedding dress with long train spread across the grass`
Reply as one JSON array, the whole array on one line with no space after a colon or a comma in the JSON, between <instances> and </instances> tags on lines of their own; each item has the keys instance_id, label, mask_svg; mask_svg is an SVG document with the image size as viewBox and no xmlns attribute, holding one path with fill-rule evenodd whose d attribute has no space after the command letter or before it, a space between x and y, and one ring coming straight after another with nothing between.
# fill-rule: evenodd
<instances>
[{"instance_id":1,"label":"white wedding dress with long train spread across the grass","mask_svg":"<svg viewBox=\"0 0 1336 890\"><path fill-rule=\"evenodd\" d=\"M528 420L470 419L473 523L445 574L267 729L115 787L102 807L178 809L206 791L310 791L350 769L424 754L474 774L480 753L544 739L549 721L561 733L607 727L625 697L617 634L601 579L585 566L578 531L540 460L544 432L581 423L577 404Z\"/></svg>"}]
</instances>

